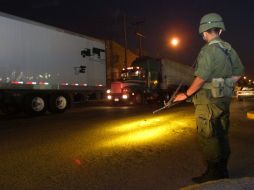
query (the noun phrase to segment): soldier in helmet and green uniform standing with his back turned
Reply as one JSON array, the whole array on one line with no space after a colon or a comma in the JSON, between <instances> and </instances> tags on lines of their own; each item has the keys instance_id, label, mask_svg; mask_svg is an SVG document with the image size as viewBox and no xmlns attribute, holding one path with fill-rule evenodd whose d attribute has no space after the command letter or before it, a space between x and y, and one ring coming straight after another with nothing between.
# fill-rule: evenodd
<instances>
[{"instance_id":1,"label":"soldier in helmet and green uniform standing with his back turned","mask_svg":"<svg viewBox=\"0 0 254 190\"><path fill-rule=\"evenodd\" d=\"M191 97L195 105L198 141L207 164L204 174L192 178L195 183L229 177L229 106L234 84L243 75L244 67L236 51L220 38L223 31L219 14L201 18L199 33L207 43L197 57L192 85L174 99L176 102Z\"/></svg>"}]
</instances>

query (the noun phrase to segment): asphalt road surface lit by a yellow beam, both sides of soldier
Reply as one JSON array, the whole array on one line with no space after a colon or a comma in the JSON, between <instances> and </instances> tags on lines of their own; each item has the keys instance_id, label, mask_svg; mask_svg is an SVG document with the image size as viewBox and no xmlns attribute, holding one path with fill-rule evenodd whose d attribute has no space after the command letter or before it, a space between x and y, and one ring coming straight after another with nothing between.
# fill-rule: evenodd
<instances>
[{"instance_id":1,"label":"asphalt road surface lit by a yellow beam, both sides of soldier","mask_svg":"<svg viewBox=\"0 0 254 190\"><path fill-rule=\"evenodd\" d=\"M232 105L232 177L254 175L252 102ZM203 172L192 105L0 118L0 189L178 189Z\"/></svg>"}]
</instances>

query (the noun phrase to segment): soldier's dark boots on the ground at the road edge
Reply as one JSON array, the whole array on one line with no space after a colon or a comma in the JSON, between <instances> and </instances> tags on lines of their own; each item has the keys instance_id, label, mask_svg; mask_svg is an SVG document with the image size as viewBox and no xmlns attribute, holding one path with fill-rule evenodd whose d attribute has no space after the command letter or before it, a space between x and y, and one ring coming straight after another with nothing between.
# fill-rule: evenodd
<instances>
[{"instance_id":1,"label":"soldier's dark boots on the ground at the road edge","mask_svg":"<svg viewBox=\"0 0 254 190\"><path fill-rule=\"evenodd\" d=\"M207 169L201 176L192 178L194 183L204 183L207 181L225 178L220 162L207 162Z\"/></svg>"}]
</instances>

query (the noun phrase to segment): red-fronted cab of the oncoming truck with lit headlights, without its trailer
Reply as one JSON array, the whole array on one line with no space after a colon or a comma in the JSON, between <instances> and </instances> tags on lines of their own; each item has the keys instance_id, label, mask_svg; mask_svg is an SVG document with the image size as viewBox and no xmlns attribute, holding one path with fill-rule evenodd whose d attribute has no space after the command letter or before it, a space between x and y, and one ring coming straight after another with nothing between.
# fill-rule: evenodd
<instances>
[{"instance_id":1,"label":"red-fronted cab of the oncoming truck with lit headlights, without its trailer","mask_svg":"<svg viewBox=\"0 0 254 190\"><path fill-rule=\"evenodd\" d=\"M142 104L158 97L160 62L149 57L137 58L123 68L121 78L111 83L107 99L113 102Z\"/></svg>"}]
</instances>

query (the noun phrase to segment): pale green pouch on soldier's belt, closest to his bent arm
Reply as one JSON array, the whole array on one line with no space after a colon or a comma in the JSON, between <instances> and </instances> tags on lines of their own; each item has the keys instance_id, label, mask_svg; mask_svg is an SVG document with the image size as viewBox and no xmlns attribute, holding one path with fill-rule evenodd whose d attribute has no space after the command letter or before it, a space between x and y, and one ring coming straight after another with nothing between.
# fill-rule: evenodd
<instances>
[{"instance_id":1,"label":"pale green pouch on soldier's belt, closest to his bent arm","mask_svg":"<svg viewBox=\"0 0 254 190\"><path fill-rule=\"evenodd\" d=\"M224 79L223 78L214 78L211 82L211 93L213 98L222 98L224 94Z\"/></svg>"}]
</instances>

